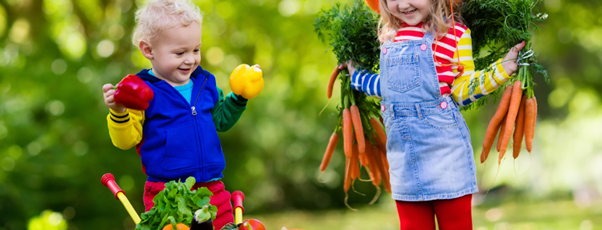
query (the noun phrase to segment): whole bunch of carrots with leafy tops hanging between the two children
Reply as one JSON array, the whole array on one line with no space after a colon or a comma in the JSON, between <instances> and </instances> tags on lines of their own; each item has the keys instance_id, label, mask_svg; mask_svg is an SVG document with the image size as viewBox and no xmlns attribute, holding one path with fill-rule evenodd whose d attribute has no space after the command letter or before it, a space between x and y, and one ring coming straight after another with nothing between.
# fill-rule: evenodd
<instances>
[{"instance_id":1,"label":"whole bunch of carrots with leafy tops hanging between the two children","mask_svg":"<svg viewBox=\"0 0 602 230\"><path fill-rule=\"evenodd\" d=\"M353 63L363 69L378 72L380 63L380 43L375 28L379 16L361 0L353 5L335 4L329 10L318 13L314 23L318 37L329 45L338 63ZM386 158L387 136L381 121L380 103L362 92L351 88L351 79L346 68L337 66L328 83L328 98L336 79L341 82L341 103L337 106L338 122L330 138L320 171L326 170L336 148L340 135L343 138L345 152L344 190L347 203L349 188L360 178L363 167L377 193L372 202L380 195L381 184L389 193L389 165ZM355 189L354 189L355 190ZM372 203L371 202L371 203Z\"/></svg>"}]
</instances>

